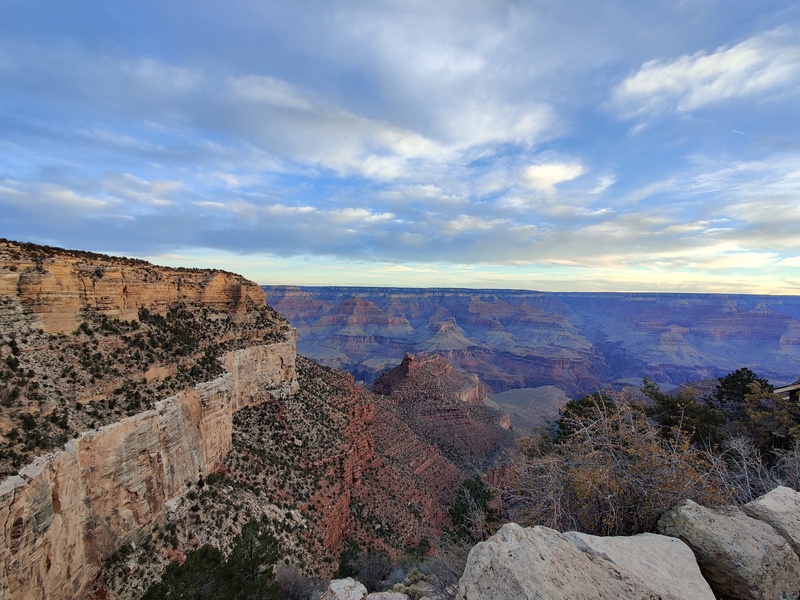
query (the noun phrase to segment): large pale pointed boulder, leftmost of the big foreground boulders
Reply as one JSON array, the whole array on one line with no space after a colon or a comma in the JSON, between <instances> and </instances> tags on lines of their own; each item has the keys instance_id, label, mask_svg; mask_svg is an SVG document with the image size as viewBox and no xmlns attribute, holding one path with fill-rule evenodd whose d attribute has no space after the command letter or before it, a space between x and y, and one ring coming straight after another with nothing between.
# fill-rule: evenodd
<instances>
[{"instance_id":1,"label":"large pale pointed boulder, leftmost of the big foreground boulders","mask_svg":"<svg viewBox=\"0 0 800 600\"><path fill-rule=\"evenodd\" d=\"M611 561L579 550L547 527L506 523L469 553L458 600L655 599L658 594Z\"/></svg>"}]
</instances>

